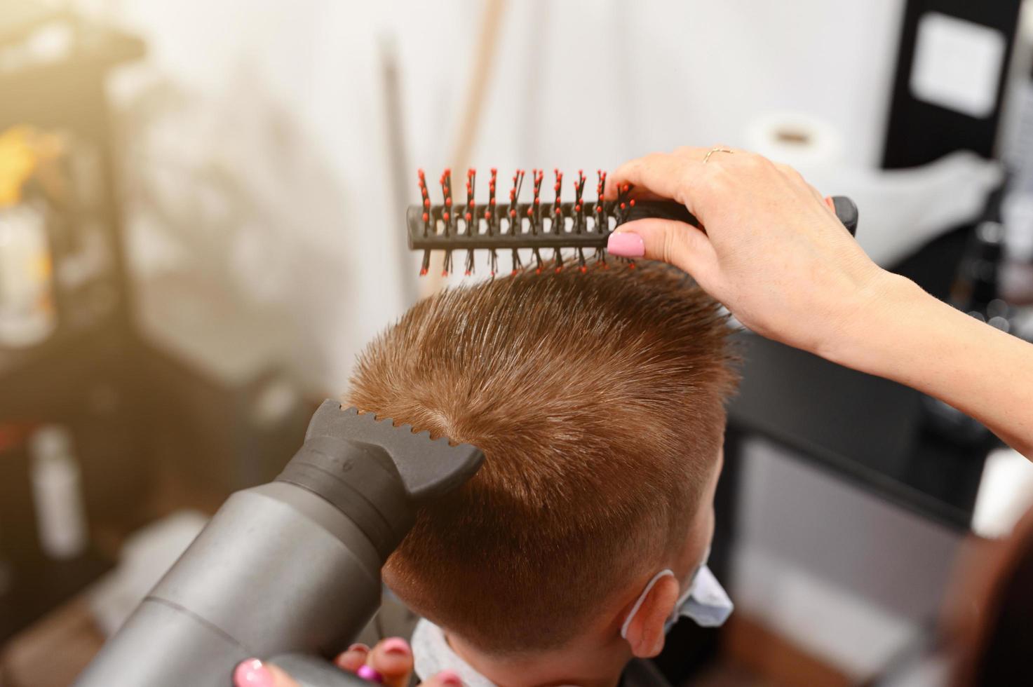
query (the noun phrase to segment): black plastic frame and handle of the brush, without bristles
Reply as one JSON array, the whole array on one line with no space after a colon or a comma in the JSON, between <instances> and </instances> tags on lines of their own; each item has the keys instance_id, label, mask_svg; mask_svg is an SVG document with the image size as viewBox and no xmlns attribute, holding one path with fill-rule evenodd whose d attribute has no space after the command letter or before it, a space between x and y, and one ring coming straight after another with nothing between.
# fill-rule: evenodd
<instances>
[{"instance_id":1,"label":"black plastic frame and handle of the brush, without bristles","mask_svg":"<svg viewBox=\"0 0 1033 687\"><path fill-rule=\"evenodd\" d=\"M842 195L833 197L836 216L851 235L857 231L857 206L850 198ZM540 204L539 204L540 205ZM647 217L658 217L686 222L692 226L700 226L699 221L685 206L672 200L638 200L631 205L625 204L622 210L616 200L605 200L597 204L585 204L582 212L576 212L574 202L562 202L559 206L545 204L550 211L542 213L536 221L527 218L528 211L533 214L535 205L531 202L515 204L515 217L522 218L519 223L510 223L508 206L496 206L490 217L483 216L482 210L477 210L477 218L470 224L463 217L466 215L464 206L455 206L449 213L449 222L443 220L445 206L431 206L429 209L420 206L410 206L406 214L409 229L409 248L411 250L479 250L507 248L605 248L606 240L614 229L625 222ZM557 214L556 209L560 210ZM424 215L429 215L424 221ZM554 217L563 218L560 229ZM512 227L516 225L518 231ZM469 228L475 226L475 231ZM558 230L560 229L560 230Z\"/></svg>"}]
</instances>

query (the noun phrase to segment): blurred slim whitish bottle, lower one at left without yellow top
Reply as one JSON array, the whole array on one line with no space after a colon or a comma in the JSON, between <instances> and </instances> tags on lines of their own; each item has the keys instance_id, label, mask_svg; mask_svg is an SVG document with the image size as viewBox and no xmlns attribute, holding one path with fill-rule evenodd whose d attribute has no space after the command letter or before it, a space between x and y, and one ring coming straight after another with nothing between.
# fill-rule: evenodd
<instances>
[{"instance_id":1,"label":"blurred slim whitish bottle, lower one at left without yellow top","mask_svg":"<svg viewBox=\"0 0 1033 687\"><path fill-rule=\"evenodd\" d=\"M29 441L30 475L39 547L51 558L75 558L88 543L86 509L71 434L48 425Z\"/></svg>"}]
</instances>

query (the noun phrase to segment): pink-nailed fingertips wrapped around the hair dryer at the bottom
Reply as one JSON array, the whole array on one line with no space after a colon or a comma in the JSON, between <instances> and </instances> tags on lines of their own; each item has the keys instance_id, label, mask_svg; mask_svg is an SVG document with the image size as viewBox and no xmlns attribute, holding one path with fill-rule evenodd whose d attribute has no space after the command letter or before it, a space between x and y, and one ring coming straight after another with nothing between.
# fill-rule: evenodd
<instances>
[{"instance_id":1,"label":"pink-nailed fingertips wrapped around the hair dryer at the bottom","mask_svg":"<svg viewBox=\"0 0 1033 687\"><path fill-rule=\"evenodd\" d=\"M406 687L412 677L412 649L401 637L382 639L372 650L363 644L352 645L334 662L343 670L372 680L374 684L379 681L387 687ZM279 667L254 658L237 666L233 684L237 687L298 687L298 683ZM420 683L420 687L462 687L462 684L455 673L444 670Z\"/></svg>"}]
</instances>

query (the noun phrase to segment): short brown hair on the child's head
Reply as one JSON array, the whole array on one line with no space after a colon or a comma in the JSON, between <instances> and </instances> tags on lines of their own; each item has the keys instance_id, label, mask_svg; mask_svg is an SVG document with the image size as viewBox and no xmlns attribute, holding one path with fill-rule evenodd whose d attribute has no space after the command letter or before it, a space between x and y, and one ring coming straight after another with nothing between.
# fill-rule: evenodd
<instances>
[{"instance_id":1,"label":"short brown hair on the child's head","mask_svg":"<svg viewBox=\"0 0 1033 687\"><path fill-rule=\"evenodd\" d=\"M346 395L483 450L386 570L416 611L494 654L561 647L684 541L737 379L725 318L683 273L553 272L417 303Z\"/></svg>"}]
</instances>

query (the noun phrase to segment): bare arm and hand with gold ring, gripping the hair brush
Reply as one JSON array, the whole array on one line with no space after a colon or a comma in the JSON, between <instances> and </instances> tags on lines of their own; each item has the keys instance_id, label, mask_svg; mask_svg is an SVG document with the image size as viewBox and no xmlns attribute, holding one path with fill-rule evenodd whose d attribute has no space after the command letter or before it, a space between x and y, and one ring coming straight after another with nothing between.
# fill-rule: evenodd
<instances>
[{"instance_id":1,"label":"bare arm and hand with gold ring, gripping the hair brush","mask_svg":"<svg viewBox=\"0 0 1033 687\"><path fill-rule=\"evenodd\" d=\"M706 231L628 222L611 253L676 264L754 332L938 398L1033 459L1033 345L878 268L793 169L709 150L632 160L606 189L674 198Z\"/></svg>"}]
</instances>

